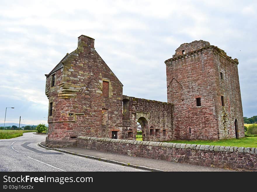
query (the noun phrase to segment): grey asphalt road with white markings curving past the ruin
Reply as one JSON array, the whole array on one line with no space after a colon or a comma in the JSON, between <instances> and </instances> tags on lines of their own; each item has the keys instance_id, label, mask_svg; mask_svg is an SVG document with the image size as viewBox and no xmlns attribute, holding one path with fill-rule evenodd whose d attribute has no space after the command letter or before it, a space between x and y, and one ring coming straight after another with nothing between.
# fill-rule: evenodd
<instances>
[{"instance_id":1,"label":"grey asphalt road with white markings curving past the ruin","mask_svg":"<svg viewBox=\"0 0 257 192\"><path fill-rule=\"evenodd\" d=\"M41 148L46 136L32 132L0 139L0 171L144 171Z\"/></svg>"}]
</instances>

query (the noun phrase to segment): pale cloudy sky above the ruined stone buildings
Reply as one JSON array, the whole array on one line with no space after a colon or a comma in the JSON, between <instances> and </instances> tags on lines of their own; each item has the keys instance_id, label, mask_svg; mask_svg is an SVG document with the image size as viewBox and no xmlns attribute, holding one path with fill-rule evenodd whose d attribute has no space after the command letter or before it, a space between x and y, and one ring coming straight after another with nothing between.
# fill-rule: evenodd
<instances>
[{"instance_id":1,"label":"pale cloudy sky above the ruined stone buildings","mask_svg":"<svg viewBox=\"0 0 257 192\"><path fill-rule=\"evenodd\" d=\"M256 1L0 1L0 123L47 123L44 74L81 34L123 83L123 94L167 101L176 48L209 41L239 60L244 116L257 115Z\"/></svg>"}]
</instances>

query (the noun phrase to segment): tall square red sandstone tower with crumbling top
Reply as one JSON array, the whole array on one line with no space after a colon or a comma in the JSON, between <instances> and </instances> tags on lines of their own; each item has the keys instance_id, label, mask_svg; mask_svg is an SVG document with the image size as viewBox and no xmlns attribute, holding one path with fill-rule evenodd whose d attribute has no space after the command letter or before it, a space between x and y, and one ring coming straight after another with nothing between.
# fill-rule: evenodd
<instances>
[{"instance_id":1,"label":"tall square red sandstone tower with crumbling top","mask_svg":"<svg viewBox=\"0 0 257 192\"><path fill-rule=\"evenodd\" d=\"M237 59L200 40L180 45L165 64L175 139L244 137Z\"/></svg>"}]
</instances>

